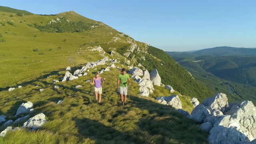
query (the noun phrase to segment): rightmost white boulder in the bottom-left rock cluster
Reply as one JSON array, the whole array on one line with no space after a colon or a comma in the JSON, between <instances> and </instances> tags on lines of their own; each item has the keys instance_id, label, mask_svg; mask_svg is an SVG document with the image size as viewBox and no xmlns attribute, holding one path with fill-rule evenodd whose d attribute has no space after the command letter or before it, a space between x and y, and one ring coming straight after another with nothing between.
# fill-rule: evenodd
<instances>
[{"instance_id":1,"label":"rightmost white boulder in the bottom-left rock cluster","mask_svg":"<svg viewBox=\"0 0 256 144\"><path fill-rule=\"evenodd\" d=\"M43 113L37 114L26 121L22 128L28 128L28 130L38 130L46 123L45 115Z\"/></svg>"}]
</instances>

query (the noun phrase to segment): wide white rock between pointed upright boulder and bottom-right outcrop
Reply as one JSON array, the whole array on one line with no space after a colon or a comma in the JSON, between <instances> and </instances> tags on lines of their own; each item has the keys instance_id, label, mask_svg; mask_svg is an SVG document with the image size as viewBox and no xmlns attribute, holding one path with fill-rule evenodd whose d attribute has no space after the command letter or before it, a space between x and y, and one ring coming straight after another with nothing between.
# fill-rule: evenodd
<instances>
[{"instance_id":1,"label":"wide white rock between pointed upright boulder and bottom-right outcrop","mask_svg":"<svg viewBox=\"0 0 256 144\"><path fill-rule=\"evenodd\" d=\"M173 95L173 96L161 96L157 97L156 100L160 102L161 104L169 105L172 106L175 109L181 109L181 101L178 95Z\"/></svg>"}]
</instances>

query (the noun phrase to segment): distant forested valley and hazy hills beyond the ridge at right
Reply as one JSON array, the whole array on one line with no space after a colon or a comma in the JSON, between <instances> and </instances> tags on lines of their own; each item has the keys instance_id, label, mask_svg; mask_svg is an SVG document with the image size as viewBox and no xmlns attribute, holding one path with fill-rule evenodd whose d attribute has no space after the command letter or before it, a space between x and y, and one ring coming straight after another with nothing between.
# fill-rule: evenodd
<instances>
[{"instance_id":1,"label":"distant forested valley and hazy hills beyond the ridge at right","mask_svg":"<svg viewBox=\"0 0 256 144\"><path fill-rule=\"evenodd\" d=\"M166 52L194 78L218 92L229 84L231 95L240 98L256 94L256 48L228 46L190 52ZM225 84L221 82L226 82ZM228 89L227 89L228 90Z\"/></svg>"}]
</instances>

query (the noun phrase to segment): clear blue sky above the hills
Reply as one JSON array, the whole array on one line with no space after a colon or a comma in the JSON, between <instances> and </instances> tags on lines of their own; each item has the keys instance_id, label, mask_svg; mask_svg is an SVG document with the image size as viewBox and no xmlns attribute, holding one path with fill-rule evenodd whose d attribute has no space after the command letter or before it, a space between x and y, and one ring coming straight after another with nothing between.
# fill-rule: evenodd
<instances>
[{"instance_id":1,"label":"clear blue sky above the hills","mask_svg":"<svg viewBox=\"0 0 256 144\"><path fill-rule=\"evenodd\" d=\"M1 0L34 14L74 10L164 51L256 47L256 0Z\"/></svg>"}]
</instances>

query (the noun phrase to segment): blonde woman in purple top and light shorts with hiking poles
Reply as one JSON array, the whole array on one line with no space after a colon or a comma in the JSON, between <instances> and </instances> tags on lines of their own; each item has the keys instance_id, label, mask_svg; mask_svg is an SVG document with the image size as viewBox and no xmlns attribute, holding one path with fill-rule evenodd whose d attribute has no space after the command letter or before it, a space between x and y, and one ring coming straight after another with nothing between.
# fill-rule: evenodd
<instances>
[{"instance_id":1,"label":"blonde woman in purple top and light shorts with hiking poles","mask_svg":"<svg viewBox=\"0 0 256 144\"><path fill-rule=\"evenodd\" d=\"M96 98L96 103L101 104L101 94L102 94L102 87L101 87L101 83L104 83L105 78L100 78L100 73L97 72L95 74L95 78L93 78L92 82L90 82L90 84L94 84L94 92L95 92L95 98ZM99 100L98 100L98 94L99 94Z\"/></svg>"}]
</instances>

